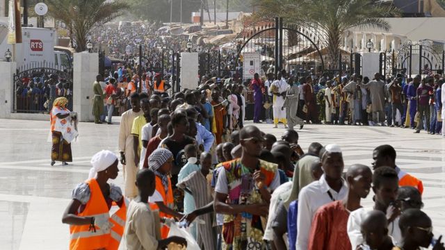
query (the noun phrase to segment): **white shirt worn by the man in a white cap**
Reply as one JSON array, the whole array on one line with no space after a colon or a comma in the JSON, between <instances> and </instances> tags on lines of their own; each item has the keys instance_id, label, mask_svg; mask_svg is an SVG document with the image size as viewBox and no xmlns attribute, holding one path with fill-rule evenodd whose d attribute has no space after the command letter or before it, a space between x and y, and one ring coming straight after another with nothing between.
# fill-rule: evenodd
<instances>
[{"instance_id":1,"label":"white shirt worn by the man in a white cap","mask_svg":"<svg viewBox=\"0 0 445 250\"><path fill-rule=\"evenodd\" d=\"M328 192L330 192L332 199ZM343 180L343 186L340 192L336 192L327 185L324 174L319 181L314 181L305 188L302 188L298 195L297 250L307 250L312 219L314 219L317 209L332 201L341 200L345 198L347 194L348 186L346 185L346 181Z\"/></svg>"}]
</instances>

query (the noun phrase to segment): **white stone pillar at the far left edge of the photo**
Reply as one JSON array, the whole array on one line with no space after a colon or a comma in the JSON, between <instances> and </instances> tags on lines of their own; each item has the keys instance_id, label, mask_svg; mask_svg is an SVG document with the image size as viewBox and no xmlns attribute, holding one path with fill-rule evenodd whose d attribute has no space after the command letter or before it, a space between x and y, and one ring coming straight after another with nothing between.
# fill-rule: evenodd
<instances>
[{"instance_id":1,"label":"white stone pillar at the far left edge of the photo","mask_svg":"<svg viewBox=\"0 0 445 250\"><path fill-rule=\"evenodd\" d=\"M0 118L8 119L13 112L15 69L16 63L0 62Z\"/></svg>"}]
</instances>

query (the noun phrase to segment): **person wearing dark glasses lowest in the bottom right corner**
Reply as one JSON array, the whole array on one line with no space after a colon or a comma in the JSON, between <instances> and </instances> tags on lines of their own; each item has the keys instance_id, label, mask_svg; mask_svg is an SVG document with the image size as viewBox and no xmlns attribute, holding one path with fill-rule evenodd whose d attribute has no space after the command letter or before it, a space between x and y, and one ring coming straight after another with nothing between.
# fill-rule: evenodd
<instances>
[{"instance_id":1,"label":"person wearing dark glasses lowest in the bottom right corner","mask_svg":"<svg viewBox=\"0 0 445 250\"><path fill-rule=\"evenodd\" d=\"M438 240L433 240L432 223L430 217L419 209L410 208L406 210L398 223L403 235L403 243L394 249L419 249L428 248L432 244L432 250L444 250L441 242L442 235Z\"/></svg>"}]
</instances>

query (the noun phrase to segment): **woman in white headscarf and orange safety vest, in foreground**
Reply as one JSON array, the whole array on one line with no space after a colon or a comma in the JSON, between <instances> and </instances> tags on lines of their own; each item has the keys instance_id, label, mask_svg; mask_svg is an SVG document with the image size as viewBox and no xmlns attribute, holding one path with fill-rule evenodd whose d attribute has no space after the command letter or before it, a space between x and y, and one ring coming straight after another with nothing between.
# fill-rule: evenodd
<instances>
[{"instance_id":1,"label":"woman in white headscarf and orange safety vest, in foreground","mask_svg":"<svg viewBox=\"0 0 445 250\"><path fill-rule=\"evenodd\" d=\"M122 233L115 229L122 226L127 209L122 190L107 183L118 177L118 157L102 150L92 156L91 165L88 180L74 188L63 213L62 222L70 224L70 249L118 249L115 246L119 246L120 238L115 236ZM121 209L110 217L113 201Z\"/></svg>"}]
</instances>

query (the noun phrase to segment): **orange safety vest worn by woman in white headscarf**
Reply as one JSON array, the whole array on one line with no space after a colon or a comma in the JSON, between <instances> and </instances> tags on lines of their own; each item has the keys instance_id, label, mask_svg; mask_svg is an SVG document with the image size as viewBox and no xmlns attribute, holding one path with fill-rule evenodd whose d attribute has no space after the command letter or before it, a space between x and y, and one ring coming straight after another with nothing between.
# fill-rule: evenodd
<instances>
[{"instance_id":1,"label":"orange safety vest worn by woman in white headscarf","mask_svg":"<svg viewBox=\"0 0 445 250\"><path fill-rule=\"evenodd\" d=\"M120 239L123 235L125 219L127 219L127 205L123 203L112 219L110 218L108 206L102 195L95 178L86 181L90 188L90 200L86 203L85 209L79 213L82 217L95 217L96 232L89 231L90 225L70 226L70 250L73 249L118 249ZM102 225L107 221L114 226L110 231L104 231L97 225ZM123 222L123 224L122 224ZM123 225L123 226L122 226Z\"/></svg>"}]
</instances>

